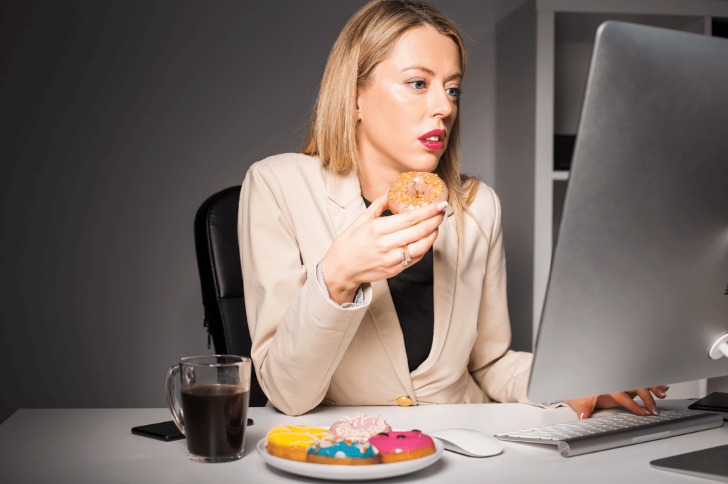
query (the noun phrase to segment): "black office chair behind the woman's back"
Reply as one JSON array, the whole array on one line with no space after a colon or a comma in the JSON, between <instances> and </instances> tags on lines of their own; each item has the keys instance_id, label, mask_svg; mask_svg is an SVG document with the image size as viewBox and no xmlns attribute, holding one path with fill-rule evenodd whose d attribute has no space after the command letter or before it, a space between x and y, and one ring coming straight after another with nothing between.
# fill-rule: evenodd
<instances>
[{"instance_id":1,"label":"black office chair behind the woman's back","mask_svg":"<svg viewBox=\"0 0 728 484\"><path fill-rule=\"evenodd\" d=\"M207 198L194 217L194 245L197 251L202 305L205 306L207 347L210 338L216 354L250 356L250 331L242 293L240 250L237 243L237 206L240 185ZM268 402L251 372L250 406Z\"/></svg>"}]
</instances>

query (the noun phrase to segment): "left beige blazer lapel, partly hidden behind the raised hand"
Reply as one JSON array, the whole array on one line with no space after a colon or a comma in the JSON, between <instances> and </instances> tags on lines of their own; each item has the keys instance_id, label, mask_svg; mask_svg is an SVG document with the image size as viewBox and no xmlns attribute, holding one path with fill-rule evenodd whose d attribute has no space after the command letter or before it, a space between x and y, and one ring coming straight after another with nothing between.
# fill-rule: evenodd
<instances>
[{"instance_id":1,"label":"left beige blazer lapel, partly hidden behind the raised hand","mask_svg":"<svg viewBox=\"0 0 728 484\"><path fill-rule=\"evenodd\" d=\"M344 230L352 225L354 220L366 210L364 200L361 196L359 179L355 173L346 176L332 176L325 173L326 195L333 203L328 204L328 214L331 216L331 223L336 236L341 235ZM439 238L439 237L438 237ZM371 283L372 300L369 304L369 314L374 326L379 332L387 356L395 368L405 390L414 404L417 403L412 378L410 377L407 364L407 353L402 335L400 321L397 319L395 303L392 302L392 294L389 293L387 281L375 281ZM435 321L437 319L435 318ZM402 395L397 395L402 397Z\"/></svg>"}]
</instances>

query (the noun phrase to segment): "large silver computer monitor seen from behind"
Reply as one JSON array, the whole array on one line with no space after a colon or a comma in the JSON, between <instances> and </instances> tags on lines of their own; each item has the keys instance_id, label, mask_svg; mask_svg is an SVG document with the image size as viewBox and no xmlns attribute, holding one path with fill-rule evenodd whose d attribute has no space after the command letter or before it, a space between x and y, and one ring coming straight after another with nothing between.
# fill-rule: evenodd
<instances>
[{"instance_id":1,"label":"large silver computer monitor seen from behind","mask_svg":"<svg viewBox=\"0 0 728 484\"><path fill-rule=\"evenodd\" d=\"M604 23L529 398L728 375L726 333L728 40Z\"/></svg>"}]
</instances>

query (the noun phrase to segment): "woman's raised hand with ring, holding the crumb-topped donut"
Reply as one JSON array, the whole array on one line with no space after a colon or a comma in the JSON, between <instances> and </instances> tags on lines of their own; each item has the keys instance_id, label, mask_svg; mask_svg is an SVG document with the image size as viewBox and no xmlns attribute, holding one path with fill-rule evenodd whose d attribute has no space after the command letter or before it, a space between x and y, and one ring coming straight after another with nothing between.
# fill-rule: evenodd
<instances>
[{"instance_id":1,"label":"woman's raised hand with ring, holding the crumb-topped donut","mask_svg":"<svg viewBox=\"0 0 728 484\"><path fill-rule=\"evenodd\" d=\"M380 217L387 209L385 193L339 235L321 262L329 297L351 303L364 282L381 281L400 273L402 247L407 245L414 264L430 250L443 222L447 202L434 203L403 214Z\"/></svg>"}]
</instances>

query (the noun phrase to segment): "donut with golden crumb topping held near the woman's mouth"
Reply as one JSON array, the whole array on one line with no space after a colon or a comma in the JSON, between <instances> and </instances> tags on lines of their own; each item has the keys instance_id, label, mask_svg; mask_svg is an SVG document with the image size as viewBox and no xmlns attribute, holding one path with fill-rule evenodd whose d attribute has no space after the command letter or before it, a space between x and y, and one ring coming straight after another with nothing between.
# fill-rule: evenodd
<instances>
[{"instance_id":1,"label":"donut with golden crumb topping held near the woman's mouth","mask_svg":"<svg viewBox=\"0 0 728 484\"><path fill-rule=\"evenodd\" d=\"M405 171L389 189L389 210L393 214L448 200L448 187L435 173Z\"/></svg>"}]
</instances>

